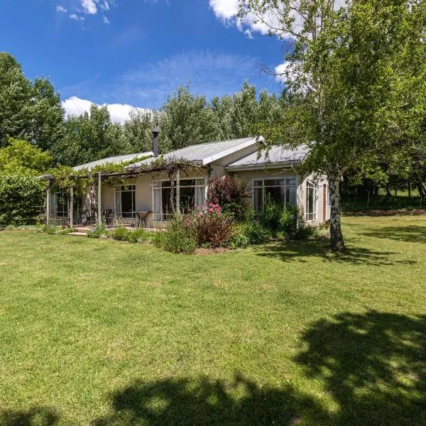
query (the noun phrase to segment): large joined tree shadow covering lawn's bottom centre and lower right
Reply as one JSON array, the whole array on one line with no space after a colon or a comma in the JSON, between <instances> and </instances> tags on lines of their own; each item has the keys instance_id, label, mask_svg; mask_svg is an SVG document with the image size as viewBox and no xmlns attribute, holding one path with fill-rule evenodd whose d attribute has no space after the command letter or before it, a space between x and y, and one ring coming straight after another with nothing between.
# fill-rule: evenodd
<instances>
[{"instance_id":1,"label":"large joined tree shadow covering lawn's bottom centre and lower right","mask_svg":"<svg viewBox=\"0 0 426 426\"><path fill-rule=\"evenodd\" d=\"M426 425L426 317L368 311L311 324L295 361L337 409L292 386L165 378L134 381L111 395L111 414L92 426Z\"/></svg>"}]
</instances>

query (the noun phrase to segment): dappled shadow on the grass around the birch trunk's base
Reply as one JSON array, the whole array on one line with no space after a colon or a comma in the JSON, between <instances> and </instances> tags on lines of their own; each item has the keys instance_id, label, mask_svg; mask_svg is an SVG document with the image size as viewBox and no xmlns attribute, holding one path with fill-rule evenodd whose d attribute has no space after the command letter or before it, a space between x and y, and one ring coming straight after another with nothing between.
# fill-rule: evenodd
<instances>
[{"instance_id":1,"label":"dappled shadow on the grass around the birch trunk's base","mask_svg":"<svg viewBox=\"0 0 426 426\"><path fill-rule=\"evenodd\" d=\"M390 256L394 251L375 251L356 246L347 246L345 251L331 251L327 239L309 239L306 241L285 241L265 244L253 248L257 256L278 258L281 261L307 262L312 256L327 262L342 262L372 266L395 264L413 265L416 261L398 261Z\"/></svg>"}]
</instances>

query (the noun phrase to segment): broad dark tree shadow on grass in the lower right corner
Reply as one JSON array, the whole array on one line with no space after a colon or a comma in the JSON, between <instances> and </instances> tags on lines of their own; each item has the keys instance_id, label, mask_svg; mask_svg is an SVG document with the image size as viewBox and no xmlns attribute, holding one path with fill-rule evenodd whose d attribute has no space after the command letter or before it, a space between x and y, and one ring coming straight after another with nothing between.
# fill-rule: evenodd
<instances>
[{"instance_id":1,"label":"broad dark tree shadow on grass in the lower right corner","mask_svg":"<svg viewBox=\"0 0 426 426\"><path fill-rule=\"evenodd\" d=\"M335 425L426 425L426 316L368 311L321 320L296 361L339 405Z\"/></svg>"}]
</instances>

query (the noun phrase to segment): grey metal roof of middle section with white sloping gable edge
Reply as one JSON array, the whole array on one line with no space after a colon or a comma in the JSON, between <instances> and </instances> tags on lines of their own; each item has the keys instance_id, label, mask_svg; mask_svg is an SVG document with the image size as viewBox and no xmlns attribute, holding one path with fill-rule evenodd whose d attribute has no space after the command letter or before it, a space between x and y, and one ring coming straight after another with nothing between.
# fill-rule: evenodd
<instances>
[{"instance_id":1,"label":"grey metal roof of middle section with white sloping gable edge","mask_svg":"<svg viewBox=\"0 0 426 426\"><path fill-rule=\"evenodd\" d=\"M172 151L162 155L163 158L185 158L185 160L199 161L203 165L211 163L225 155L239 151L239 149L251 146L257 143L257 139L253 137L233 139L231 141L217 141L209 143L200 143L198 145L187 146L177 151ZM155 158L147 158L139 163L133 163L126 168L137 168L141 165L151 164Z\"/></svg>"}]
</instances>

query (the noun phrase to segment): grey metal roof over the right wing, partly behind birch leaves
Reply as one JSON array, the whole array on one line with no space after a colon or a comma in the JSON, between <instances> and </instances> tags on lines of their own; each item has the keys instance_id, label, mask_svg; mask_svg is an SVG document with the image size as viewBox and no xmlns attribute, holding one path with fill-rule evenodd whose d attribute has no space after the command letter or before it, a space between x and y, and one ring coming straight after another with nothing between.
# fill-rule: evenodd
<instances>
[{"instance_id":1,"label":"grey metal roof over the right wing, partly behind birch leaves","mask_svg":"<svg viewBox=\"0 0 426 426\"><path fill-rule=\"evenodd\" d=\"M302 163L305 156L309 152L306 145L301 145L297 148L290 146L274 145L269 151L263 150L261 156L258 152L240 158L234 163L229 164L228 168L243 168L256 165L274 165L282 163Z\"/></svg>"}]
</instances>

